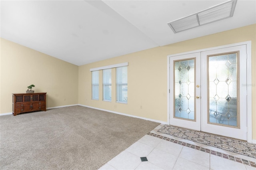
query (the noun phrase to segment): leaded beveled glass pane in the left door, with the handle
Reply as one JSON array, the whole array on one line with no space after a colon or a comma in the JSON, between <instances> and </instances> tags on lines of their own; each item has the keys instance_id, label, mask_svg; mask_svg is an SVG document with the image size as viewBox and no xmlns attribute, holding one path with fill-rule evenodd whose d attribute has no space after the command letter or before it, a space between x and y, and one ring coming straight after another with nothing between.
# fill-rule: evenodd
<instances>
[{"instance_id":1,"label":"leaded beveled glass pane in the left door, with the handle","mask_svg":"<svg viewBox=\"0 0 256 170\"><path fill-rule=\"evenodd\" d=\"M195 59L174 61L174 117L195 120Z\"/></svg>"}]
</instances>

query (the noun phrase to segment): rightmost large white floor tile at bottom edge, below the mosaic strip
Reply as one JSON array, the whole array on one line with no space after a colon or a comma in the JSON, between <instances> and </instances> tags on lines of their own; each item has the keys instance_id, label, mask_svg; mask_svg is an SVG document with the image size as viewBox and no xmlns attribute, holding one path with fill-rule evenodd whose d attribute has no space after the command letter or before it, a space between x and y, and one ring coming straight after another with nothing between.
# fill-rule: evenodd
<instances>
[{"instance_id":1,"label":"rightmost large white floor tile at bottom edge, below the mosaic strip","mask_svg":"<svg viewBox=\"0 0 256 170\"><path fill-rule=\"evenodd\" d=\"M210 168L212 170L246 170L244 164L212 154L210 155Z\"/></svg>"}]
</instances>

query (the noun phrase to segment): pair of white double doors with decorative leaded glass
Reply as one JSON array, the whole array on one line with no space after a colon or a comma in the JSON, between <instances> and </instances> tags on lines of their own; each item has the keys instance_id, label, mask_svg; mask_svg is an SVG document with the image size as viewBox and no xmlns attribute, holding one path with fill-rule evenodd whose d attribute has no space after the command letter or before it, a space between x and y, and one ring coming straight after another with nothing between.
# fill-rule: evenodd
<instances>
[{"instance_id":1,"label":"pair of white double doors with decorative leaded glass","mask_svg":"<svg viewBox=\"0 0 256 170\"><path fill-rule=\"evenodd\" d=\"M247 140L246 45L170 57L170 125Z\"/></svg>"}]
</instances>

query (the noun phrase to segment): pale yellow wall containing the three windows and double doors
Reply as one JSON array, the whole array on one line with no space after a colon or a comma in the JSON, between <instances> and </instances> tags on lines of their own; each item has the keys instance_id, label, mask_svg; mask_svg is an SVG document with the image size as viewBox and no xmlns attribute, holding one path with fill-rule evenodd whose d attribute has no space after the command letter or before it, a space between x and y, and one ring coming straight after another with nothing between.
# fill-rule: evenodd
<instances>
[{"instance_id":1,"label":"pale yellow wall containing the three windows and double doors","mask_svg":"<svg viewBox=\"0 0 256 170\"><path fill-rule=\"evenodd\" d=\"M184 42L122 55L79 67L79 95L81 105L125 113L167 122L167 55L194 51L231 43L252 41L252 132L256 139L256 24L212 34ZM91 100L91 68L129 62L128 104L115 102L115 82L112 82L112 102ZM114 69L112 69L114 72ZM114 76L114 73L113 73ZM100 74L100 81L102 75ZM113 79L114 80L114 79ZM101 84L101 82L100 82ZM142 107L142 109L141 109Z\"/></svg>"}]
</instances>

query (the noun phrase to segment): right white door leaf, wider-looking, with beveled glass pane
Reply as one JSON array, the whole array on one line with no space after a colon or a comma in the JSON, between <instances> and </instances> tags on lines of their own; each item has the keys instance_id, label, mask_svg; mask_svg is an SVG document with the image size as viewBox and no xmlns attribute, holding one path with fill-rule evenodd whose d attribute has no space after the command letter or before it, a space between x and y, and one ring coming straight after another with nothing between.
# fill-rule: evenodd
<instances>
[{"instance_id":1,"label":"right white door leaf, wider-looking, with beveled glass pane","mask_svg":"<svg viewBox=\"0 0 256 170\"><path fill-rule=\"evenodd\" d=\"M247 140L246 45L201 53L201 130Z\"/></svg>"}]
</instances>

